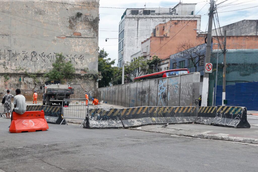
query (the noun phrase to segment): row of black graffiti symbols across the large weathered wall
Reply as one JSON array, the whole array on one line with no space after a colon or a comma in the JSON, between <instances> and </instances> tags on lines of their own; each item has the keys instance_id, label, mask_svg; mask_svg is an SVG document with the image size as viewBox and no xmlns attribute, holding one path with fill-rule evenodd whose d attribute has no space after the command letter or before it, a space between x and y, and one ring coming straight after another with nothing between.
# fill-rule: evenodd
<instances>
[{"instance_id":1,"label":"row of black graffiti symbols across the large weathered wall","mask_svg":"<svg viewBox=\"0 0 258 172\"><path fill-rule=\"evenodd\" d=\"M5 61L32 61L32 62L53 62L56 58L55 52L40 52L37 53L36 51L12 51L12 50L0 50L0 60ZM64 55L67 59L71 60L75 64L83 64L84 62L84 56L82 54L65 54Z\"/></svg>"}]
</instances>

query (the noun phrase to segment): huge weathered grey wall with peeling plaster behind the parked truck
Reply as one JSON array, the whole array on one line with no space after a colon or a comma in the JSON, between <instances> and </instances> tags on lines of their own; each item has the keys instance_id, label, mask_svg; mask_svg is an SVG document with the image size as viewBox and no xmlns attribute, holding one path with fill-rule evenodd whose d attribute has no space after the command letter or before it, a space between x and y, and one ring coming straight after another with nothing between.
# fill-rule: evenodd
<instances>
[{"instance_id":1,"label":"huge weathered grey wall with peeling plaster behind the parked truck","mask_svg":"<svg viewBox=\"0 0 258 172\"><path fill-rule=\"evenodd\" d=\"M75 4L75 5L70 5ZM63 53L76 68L74 97L96 93L99 0L9 1L0 3L0 93L21 88L27 99L39 90ZM1 96L1 95L0 95ZM40 96L39 96L40 97Z\"/></svg>"}]
</instances>

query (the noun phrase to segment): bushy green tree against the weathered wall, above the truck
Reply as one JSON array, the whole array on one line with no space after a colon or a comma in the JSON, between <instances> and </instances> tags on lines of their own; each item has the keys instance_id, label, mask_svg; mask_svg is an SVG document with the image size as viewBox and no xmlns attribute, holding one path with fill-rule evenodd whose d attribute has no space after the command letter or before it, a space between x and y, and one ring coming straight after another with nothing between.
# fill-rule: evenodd
<instances>
[{"instance_id":1,"label":"bushy green tree against the weathered wall, above the truck","mask_svg":"<svg viewBox=\"0 0 258 172\"><path fill-rule=\"evenodd\" d=\"M44 74L44 77L48 77L50 80L63 81L71 79L75 73L75 67L72 65L71 60L67 61L62 53L56 54L56 60L52 66L53 69Z\"/></svg>"}]
</instances>

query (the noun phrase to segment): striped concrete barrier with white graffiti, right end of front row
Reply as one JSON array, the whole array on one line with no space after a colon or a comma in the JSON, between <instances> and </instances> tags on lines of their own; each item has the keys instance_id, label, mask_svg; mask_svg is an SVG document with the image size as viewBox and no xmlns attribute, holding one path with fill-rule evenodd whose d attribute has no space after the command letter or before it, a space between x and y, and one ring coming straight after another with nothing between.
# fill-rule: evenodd
<instances>
[{"instance_id":1,"label":"striped concrete barrier with white graffiti, right end of front row","mask_svg":"<svg viewBox=\"0 0 258 172\"><path fill-rule=\"evenodd\" d=\"M217 106L216 116L212 125L232 128L250 128L250 124L247 121L246 107Z\"/></svg>"}]
</instances>

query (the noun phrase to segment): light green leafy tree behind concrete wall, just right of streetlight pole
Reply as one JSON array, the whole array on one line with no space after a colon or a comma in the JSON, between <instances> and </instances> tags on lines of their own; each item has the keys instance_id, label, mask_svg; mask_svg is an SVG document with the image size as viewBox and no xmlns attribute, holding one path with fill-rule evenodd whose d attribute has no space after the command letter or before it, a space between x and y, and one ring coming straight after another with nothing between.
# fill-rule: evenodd
<instances>
[{"instance_id":1,"label":"light green leafy tree behind concrete wall, just right of streetlight pole","mask_svg":"<svg viewBox=\"0 0 258 172\"><path fill-rule=\"evenodd\" d=\"M132 62L127 61L125 64L125 75L127 77L141 76L147 68L147 61L143 57L133 58Z\"/></svg>"}]
</instances>

